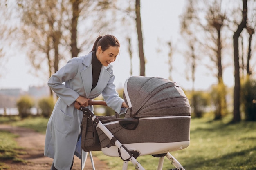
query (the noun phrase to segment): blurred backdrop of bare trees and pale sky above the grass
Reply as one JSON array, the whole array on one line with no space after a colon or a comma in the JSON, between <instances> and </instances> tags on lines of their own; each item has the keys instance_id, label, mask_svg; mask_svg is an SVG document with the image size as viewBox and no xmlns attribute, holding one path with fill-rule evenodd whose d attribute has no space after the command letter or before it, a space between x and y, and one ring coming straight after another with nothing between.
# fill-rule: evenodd
<instances>
[{"instance_id":1,"label":"blurred backdrop of bare trees and pale sky above the grass","mask_svg":"<svg viewBox=\"0 0 256 170\"><path fill-rule=\"evenodd\" d=\"M0 16L1 115L24 97L41 114L56 99L49 77L112 34L120 95L131 75L158 76L180 84L195 117L256 120L255 0L0 0Z\"/></svg>"}]
</instances>

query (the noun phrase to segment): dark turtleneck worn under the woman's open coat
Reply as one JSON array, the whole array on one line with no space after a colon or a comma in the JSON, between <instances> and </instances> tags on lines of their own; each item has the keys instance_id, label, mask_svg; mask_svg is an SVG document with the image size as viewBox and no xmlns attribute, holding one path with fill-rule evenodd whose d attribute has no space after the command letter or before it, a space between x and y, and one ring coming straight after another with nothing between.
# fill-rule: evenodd
<instances>
[{"instance_id":1,"label":"dark turtleneck worn under the woman's open coat","mask_svg":"<svg viewBox=\"0 0 256 170\"><path fill-rule=\"evenodd\" d=\"M96 52L92 53L92 89L97 85L99 74L101 73L101 62L96 57Z\"/></svg>"}]
</instances>

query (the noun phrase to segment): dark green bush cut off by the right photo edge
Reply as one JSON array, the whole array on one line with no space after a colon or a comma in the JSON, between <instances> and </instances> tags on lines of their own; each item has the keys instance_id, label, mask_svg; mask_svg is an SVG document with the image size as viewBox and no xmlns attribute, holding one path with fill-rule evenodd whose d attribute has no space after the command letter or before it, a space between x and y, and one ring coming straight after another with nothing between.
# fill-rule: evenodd
<instances>
[{"instance_id":1,"label":"dark green bush cut off by the right photo edge","mask_svg":"<svg viewBox=\"0 0 256 170\"><path fill-rule=\"evenodd\" d=\"M241 103L245 120L256 121L256 81L247 79L241 88Z\"/></svg>"}]
</instances>

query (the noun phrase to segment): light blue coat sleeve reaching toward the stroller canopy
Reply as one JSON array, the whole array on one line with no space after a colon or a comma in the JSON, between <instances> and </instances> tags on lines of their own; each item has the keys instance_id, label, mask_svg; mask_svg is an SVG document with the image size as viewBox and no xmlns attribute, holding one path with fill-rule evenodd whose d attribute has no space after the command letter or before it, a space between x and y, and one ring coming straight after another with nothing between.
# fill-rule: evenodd
<instances>
[{"instance_id":1,"label":"light blue coat sleeve reaching toward the stroller canopy","mask_svg":"<svg viewBox=\"0 0 256 170\"><path fill-rule=\"evenodd\" d=\"M115 76L113 75L113 71L111 71L111 76L108 81L106 88L102 91L103 99L106 101L106 104L115 110L117 113L121 113L121 106L124 102L124 99L119 97L117 91L115 90L115 84L113 83Z\"/></svg>"}]
</instances>

